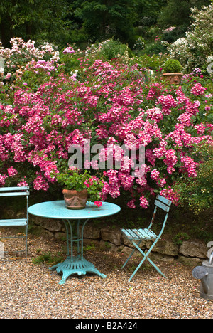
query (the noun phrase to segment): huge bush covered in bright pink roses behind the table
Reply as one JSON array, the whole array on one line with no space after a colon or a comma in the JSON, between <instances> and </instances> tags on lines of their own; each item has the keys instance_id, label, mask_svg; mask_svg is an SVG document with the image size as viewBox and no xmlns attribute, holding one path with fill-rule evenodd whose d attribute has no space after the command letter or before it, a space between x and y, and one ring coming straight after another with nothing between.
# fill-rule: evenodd
<instances>
[{"instance_id":1,"label":"huge bush covered in bright pink roses behind the table","mask_svg":"<svg viewBox=\"0 0 213 333\"><path fill-rule=\"evenodd\" d=\"M20 43L16 41L12 51L1 48L1 54L12 58L13 52L20 51ZM197 76L196 83L186 76L179 86L147 83L146 70L131 61L86 57L79 59L80 75L73 80L63 72L52 48L35 49L33 42L24 45L36 57L29 57L23 74L17 68L12 73L11 61L7 73L16 78L16 88L0 100L0 186L29 184L48 191L56 185L53 175L68 164L69 147L78 144L83 167L90 168L94 176L104 176L102 200L124 195L129 208L147 208L151 196L160 193L178 204L175 182L197 176L200 156L195 147L213 143L213 125L207 117L213 104L211 85L204 86L204 78ZM73 53L71 47L64 51L70 57ZM39 75L40 70L46 75L40 85L35 87L31 80L23 84L28 75L33 77L36 71ZM4 82L11 79L6 75ZM98 162L92 152L87 158L88 141L91 147L104 147ZM113 144L118 150L112 149ZM133 175L137 170L124 154L124 145L136 148L136 162L144 147L142 174ZM107 154L113 159L110 168ZM119 158L121 165L116 168Z\"/></svg>"}]
</instances>

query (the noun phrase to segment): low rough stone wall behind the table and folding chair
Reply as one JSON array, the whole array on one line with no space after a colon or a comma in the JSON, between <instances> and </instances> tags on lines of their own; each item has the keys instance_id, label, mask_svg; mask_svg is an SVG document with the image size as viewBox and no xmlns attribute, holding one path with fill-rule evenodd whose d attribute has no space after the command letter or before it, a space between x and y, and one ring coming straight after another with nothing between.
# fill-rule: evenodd
<instances>
[{"instance_id":1,"label":"low rough stone wall behind the table and folding chair","mask_svg":"<svg viewBox=\"0 0 213 333\"><path fill-rule=\"evenodd\" d=\"M36 228L42 229L48 236L55 238L65 238L65 226L61 221L48 218L38 218L33 216L32 222ZM84 246L90 246L112 252L121 252L128 256L131 253L132 245L121 233L119 229L101 227L87 223L84 226ZM141 243L143 251L151 247L151 240ZM185 240L180 246L175 245L173 240L163 238L158 241L151 252L153 260L163 260L173 262L179 261L186 265L199 265L207 259L207 245L200 240ZM138 255L138 251L136 251Z\"/></svg>"}]
</instances>

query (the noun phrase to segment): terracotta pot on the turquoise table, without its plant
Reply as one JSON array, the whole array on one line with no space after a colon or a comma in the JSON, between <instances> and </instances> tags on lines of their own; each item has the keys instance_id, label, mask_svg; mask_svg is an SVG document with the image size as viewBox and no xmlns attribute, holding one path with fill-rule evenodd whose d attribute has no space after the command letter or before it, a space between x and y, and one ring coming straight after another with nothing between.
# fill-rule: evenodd
<instances>
[{"instance_id":1,"label":"terracotta pot on the turquoise table, without its plant","mask_svg":"<svg viewBox=\"0 0 213 333\"><path fill-rule=\"evenodd\" d=\"M80 192L64 189L62 193L64 194L67 209L84 209L86 207L88 198L87 189Z\"/></svg>"}]
</instances>

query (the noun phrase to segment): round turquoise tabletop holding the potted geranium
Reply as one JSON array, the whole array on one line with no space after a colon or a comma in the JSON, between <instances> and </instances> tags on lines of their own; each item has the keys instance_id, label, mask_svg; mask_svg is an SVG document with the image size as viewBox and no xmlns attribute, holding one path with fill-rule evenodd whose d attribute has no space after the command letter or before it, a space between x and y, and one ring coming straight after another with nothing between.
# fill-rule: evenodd
<instances>
[{"instance_id":1,"label":"round turquoise tabletop holding the potted geranium","mask_svg":"<svg viewBox=\"0 0 213 333\"><path fill-rule=\"evenodd\" d=\"M121 208L114 203L102 202L102 206L98 208L94 203L87 202L85 209L72 211L66 208L64 200L59 200L36 203L28 208L28 213L44 218L80 220L110 216L119 213L120 210Z\"/></svg>"}]
</instances>

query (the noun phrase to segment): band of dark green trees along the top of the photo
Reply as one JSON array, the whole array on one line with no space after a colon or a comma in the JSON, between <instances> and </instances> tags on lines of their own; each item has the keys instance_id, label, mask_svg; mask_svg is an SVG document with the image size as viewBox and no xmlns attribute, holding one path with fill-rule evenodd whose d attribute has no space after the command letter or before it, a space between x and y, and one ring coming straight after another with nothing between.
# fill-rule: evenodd
<instances>
[{"instance_id":1,"label":"band of dark green trees along the top of the photo","mask_svg":"<svg viewBox=\"0 0 213 333\"><path fill-rule=\"evenodd\" d=\"M162 29L163 40L173 43L190 26L190 8L198 9L210 0L1 0L0 40L10 46L10 39L48 41L63 48L76 43L80 48L90 43L114 38L130 48L138 38L146 40L147 54L165 51L155 41ZM160 13L160 14L159 14Z\"/></svg>"}]
</instances>

